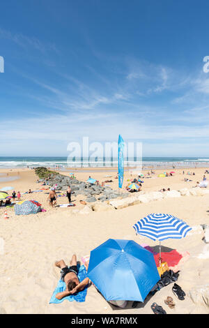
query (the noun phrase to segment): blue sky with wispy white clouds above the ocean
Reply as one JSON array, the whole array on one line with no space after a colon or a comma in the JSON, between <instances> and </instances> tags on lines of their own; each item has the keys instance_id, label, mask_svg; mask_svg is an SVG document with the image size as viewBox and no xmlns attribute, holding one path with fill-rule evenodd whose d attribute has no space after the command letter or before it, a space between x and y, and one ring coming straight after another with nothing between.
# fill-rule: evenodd
<instances>
[{"instance_id":1,"label":"blue sky with wispy white clouds above the ocean","mask_svg":"<svg viewBox=\"0 0 209 328\"><path fill-rule=\"evenodd\" d=\"M1 1L0 156L209 156L208 1Z\"/></svg>"}]
</instances>

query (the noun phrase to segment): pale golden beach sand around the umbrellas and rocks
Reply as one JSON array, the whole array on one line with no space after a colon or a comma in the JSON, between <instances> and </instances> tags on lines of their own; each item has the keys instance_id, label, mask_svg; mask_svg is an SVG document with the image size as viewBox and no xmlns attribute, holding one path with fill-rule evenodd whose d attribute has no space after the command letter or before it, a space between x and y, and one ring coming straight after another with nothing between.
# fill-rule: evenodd
<instances>
[{"instance_id":1,"label":"pale golden beach sand around the umbrellas and rocks","mask_svg":"<svg viewBox=\"0 0 209 328\"><path fill-rule=\"evenodd\" d=\"M196 181L201 181L205 169L185 170L187 171L195 172L195 176L183 175L183 170L175 170L176 174L173 177L160 178L157 174L164 170L159 170L151 179L144 179L143 190L147 192L159 191L161 188L192 188ZM29 188L32 191L40 188L40 184L36 184L38 177L33 170L1 170L1 173L8 173L8 177L18 176L20 179L0 182L0 190L4 186L13 186L16 192L24 193L29 191ZM61 174L69 175L69 172ZM109 183L109 186L116 190L118 188L118 180L114 179L116 172L110 170L97 172L94 169L91 173L77 170L75 175L83 181L86 181L89 175L100 182L112 179L114 182ZM112 177L104 177L105 175ZM185 182L184 177L192 181ZM125 172L124 187L129 182L127 179L131 177ZM8 193L11 194L11 191ZM189 252L189 259L180 267L177 281L186 292L184 301L173 295L173 284L170 284L153 297L147 297L137 308L131 308L130 302L127 308L120 309L105 301L91 285L84 303L65 300L61 304L49 304L60 277L60 269L54 267L56 260L63 258L68 264L72 254L76 253L77 260L81 261L82 256L89 254L93 248L109 238L132 239L139 244L157 245L157 241L136 236L132 228L134 223L150 213L173 214L192 227L209 224L209 195L168 198L124 209L91 211L88 215L73 214L73 209L84 207L79 203L80 199L85 200L81 195L77 196L76 200L72 195L76 207L67 208L50 208L47 197L47 191L22 196L22 200L34 199L42 204L42 208L47 211L39 214L15 216L14 210L8 209L9 218L6 220L3 216L5 208L0 208L0 237L4 241L3 252L0 253L0 313L153 313L150 306L154 301L167 313L209 313L207 306L194 304L189 297L192 288L209 284L209 261L198 258L208 246L202 240L201 233L188 234L184 239L167 239L162 242L164 246L176 248L179 252ZM68 203L68 199L59 197L58 204L64 203ZM164 304L167 296L173 297L176 303L174 309Z\"/></svg>"}]
</instances>

